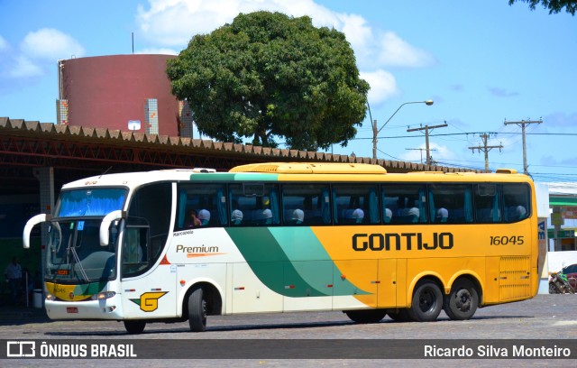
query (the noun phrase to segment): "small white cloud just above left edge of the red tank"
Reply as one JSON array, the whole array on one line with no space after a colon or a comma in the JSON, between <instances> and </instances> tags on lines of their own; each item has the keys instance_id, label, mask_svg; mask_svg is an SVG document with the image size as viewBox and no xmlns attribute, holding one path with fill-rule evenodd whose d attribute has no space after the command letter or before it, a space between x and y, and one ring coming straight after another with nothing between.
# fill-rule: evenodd
<instances>
[{"instance_id":1,"label":"small white cloud just above left edge of the red tank","mask_svg":"<svg viewBox=\"0 0 577 368\"><path fill-rule=\"evenodd\" d=\"M32 59L52 60L82 57L84 48L68 34L51 28L30 32L24 37L21 50Z\"/></svg>"}]
</instances>

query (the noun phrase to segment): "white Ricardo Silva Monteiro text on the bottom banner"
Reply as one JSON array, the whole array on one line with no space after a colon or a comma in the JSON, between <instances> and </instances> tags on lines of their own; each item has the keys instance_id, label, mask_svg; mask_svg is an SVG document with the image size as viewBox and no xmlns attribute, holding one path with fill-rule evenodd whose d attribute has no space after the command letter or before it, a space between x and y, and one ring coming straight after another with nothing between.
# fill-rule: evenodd
<instances>
[{"instance_id":1,"label":"white Ricardo Silva Monteiro text on the bottom banner","mask_svg":"<svg viewBox=\"0 0 577 368\"><path fill-rule=\"evenodd\" d=\"M570 357L571 349L568 347L553 346L526 346L513 345L502 347L496 345L477 345L467 347L442 347L437 345L425 345L425 357L431 358L462 358L462 357L516 357L516 358L547 358L547 357Z\"/></svg>"}]
</instances>

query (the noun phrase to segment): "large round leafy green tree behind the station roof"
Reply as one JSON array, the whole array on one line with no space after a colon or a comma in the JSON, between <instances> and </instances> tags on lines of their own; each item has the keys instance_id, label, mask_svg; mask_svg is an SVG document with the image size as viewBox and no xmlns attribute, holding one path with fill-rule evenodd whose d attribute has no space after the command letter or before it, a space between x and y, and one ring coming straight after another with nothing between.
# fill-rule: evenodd
<instances>
[{"instance_id":1,"label":"large round leafy green tree behind the station roof","mask_svg":"<svg viewBox=\"0 0 577 368\"><path fill-rule=\"evenodd\" d=\"M316 151L345 146L365 116L369 84L344 34L307 16L256 12L196 35L167 73L198 131L223 142Z\"/></svg>"}]
</instances>

